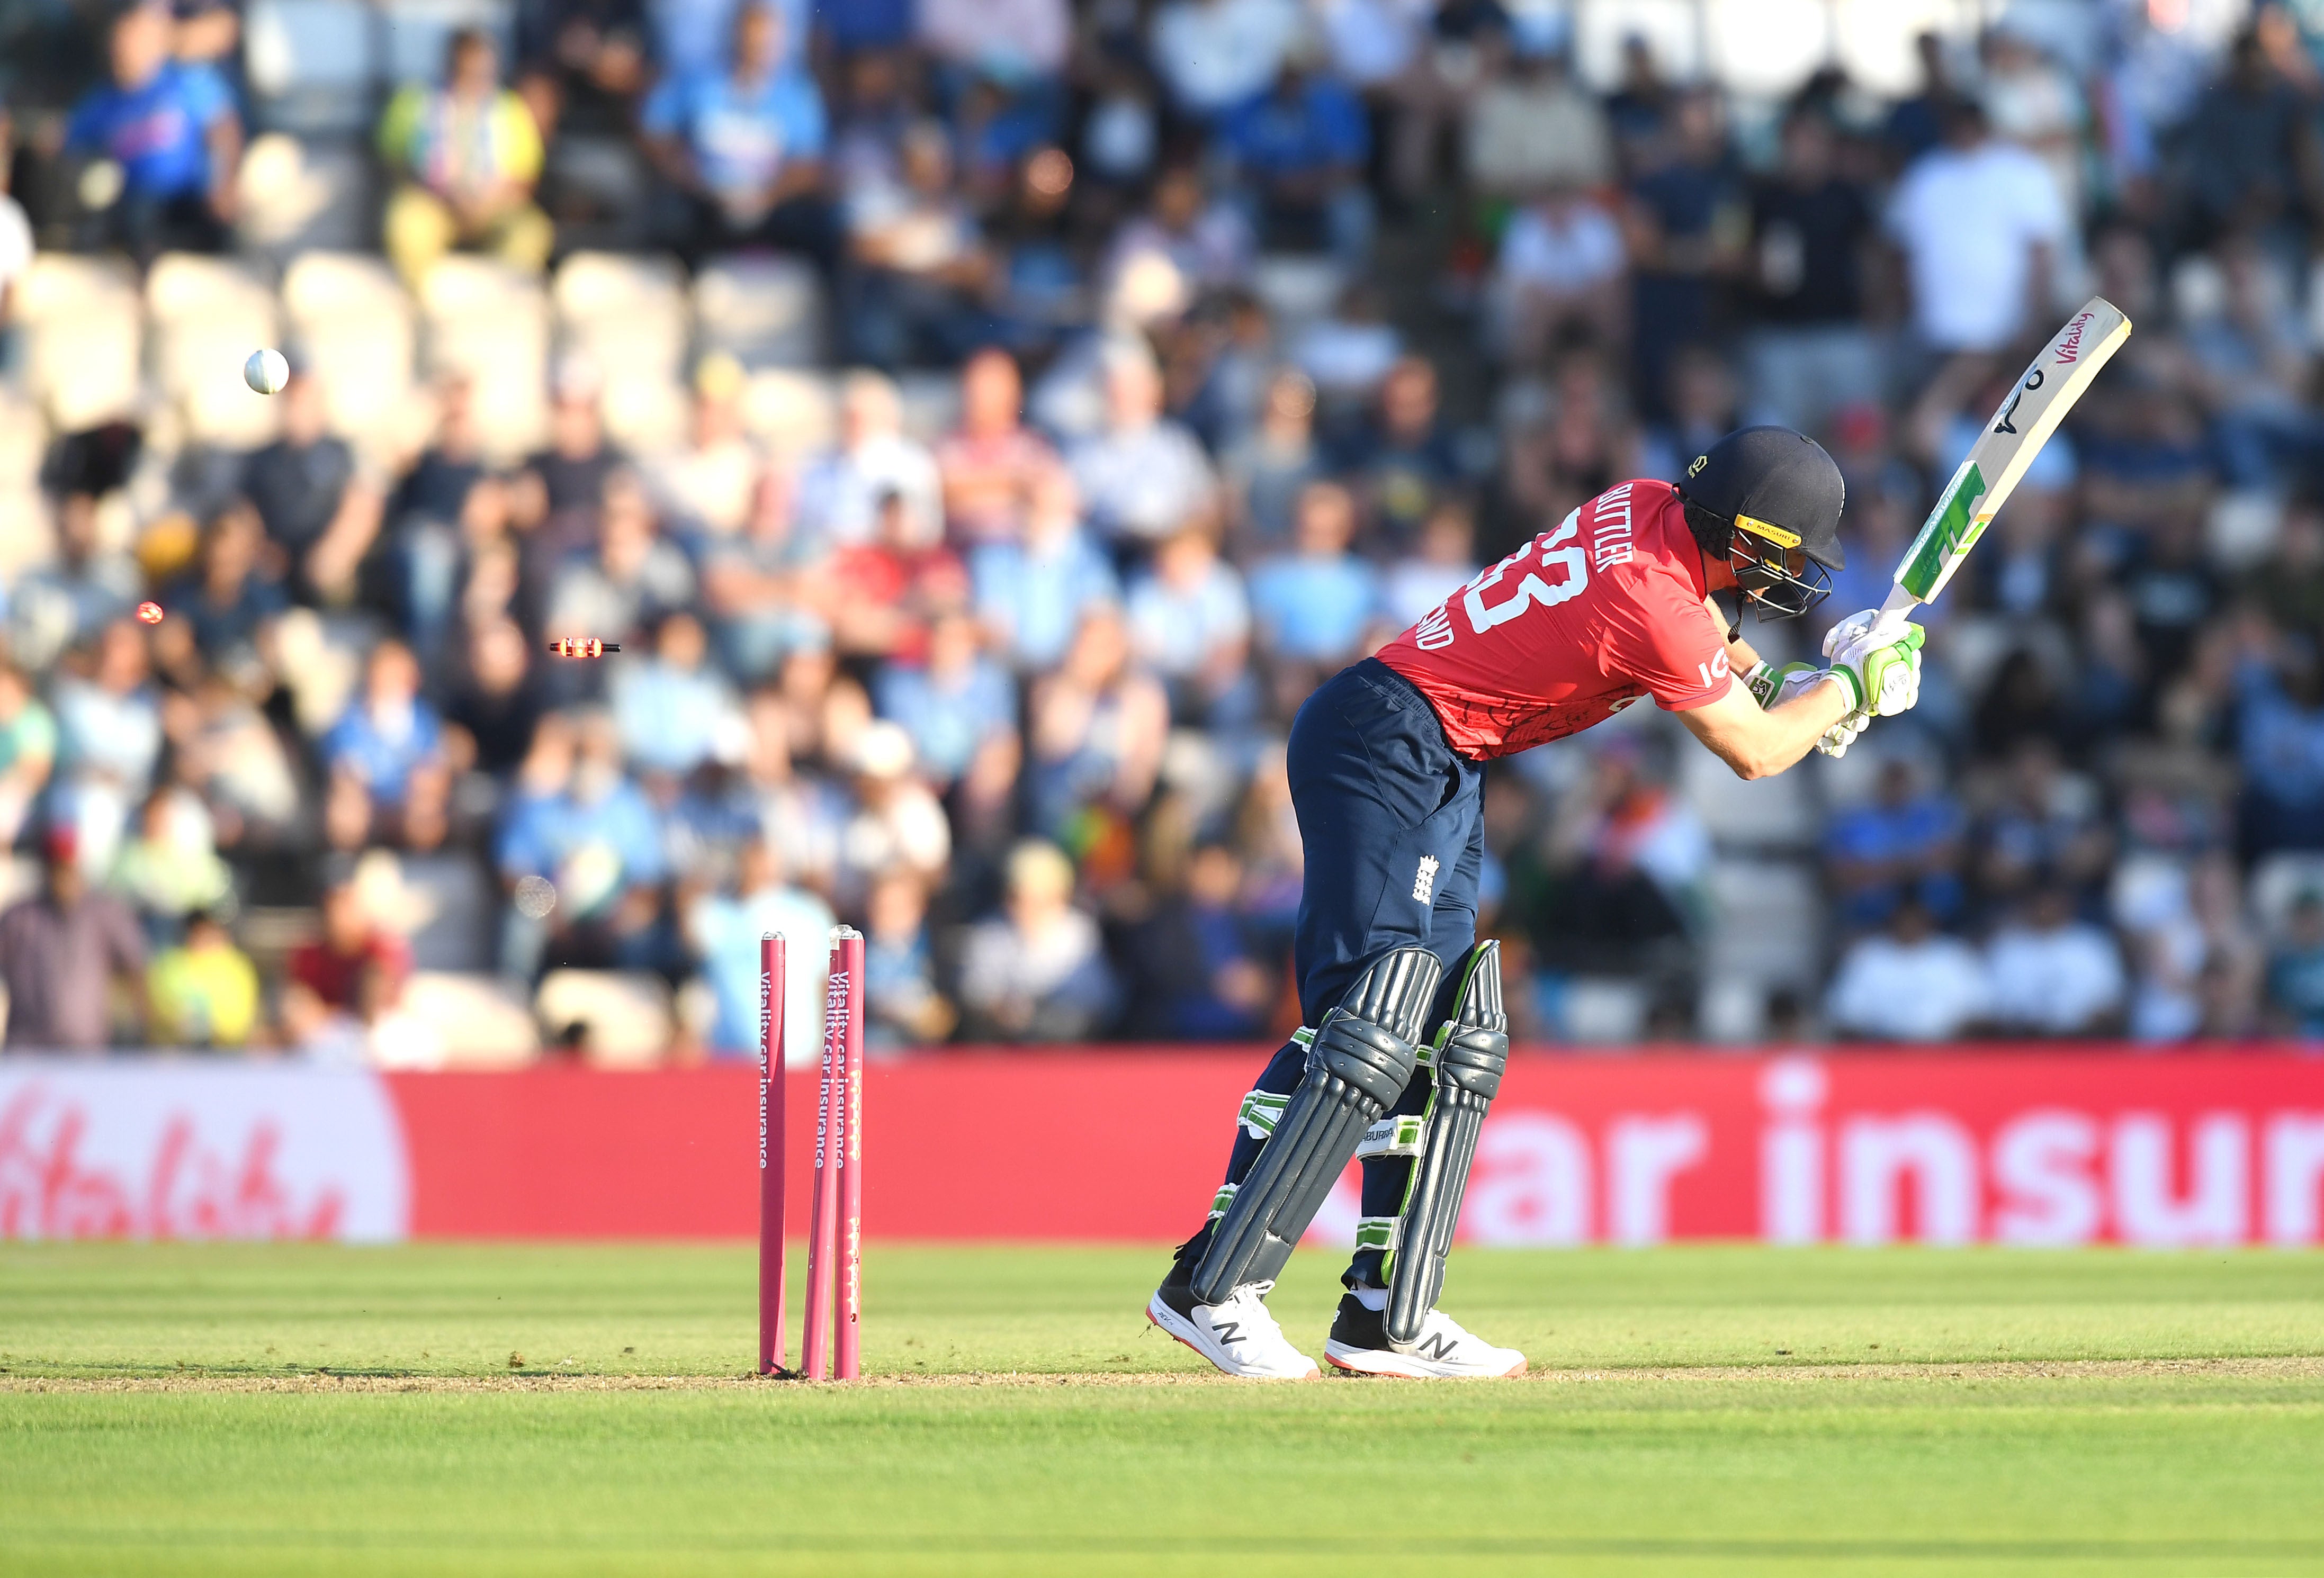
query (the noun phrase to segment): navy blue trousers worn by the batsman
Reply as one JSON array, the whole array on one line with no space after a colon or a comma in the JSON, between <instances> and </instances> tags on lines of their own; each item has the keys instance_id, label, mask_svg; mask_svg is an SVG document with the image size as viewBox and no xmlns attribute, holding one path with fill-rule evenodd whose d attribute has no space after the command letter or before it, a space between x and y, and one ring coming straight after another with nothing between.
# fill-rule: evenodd
<instances>
[{"instance_id":1,"label":"navy blue trousers worn by the batsman","mask_svg":"<svg viewBox=\"0 0 2324 1578\"><path fill-rule=\"evenodd\" d=\"M1364 964L1390 948L1429 948L1452 964L1476 941L1476 888L1485 867L1485 774L1446 744L1436 711L1411 681L1378 658L1364 658L1325 681L1292 720L1292 809L1306 846L1299 892L1299 932L1292 967L1299 971L1299 1016L1315 1025L1346 997ZM1253 1097L1290 1095L1306 1071L1306 1046L1278 1050L1253 1085ZM1394 1104L1397 1113L1427 1106L1429 1076L1420 1071ZM1267 1143L1264 1127L1243 1118L1227 1155L1227 1185L1241 1188ZM1362 1215L1394 1218L1411 1176L1406 1157L1367 1157ZM1181 1246L1181 1260L1202 1262L1211 1218ZM1383 1255L1360 1248L1341 1278L1348 1287L1380 1287Z\"/></svg>"}]
</instances>

